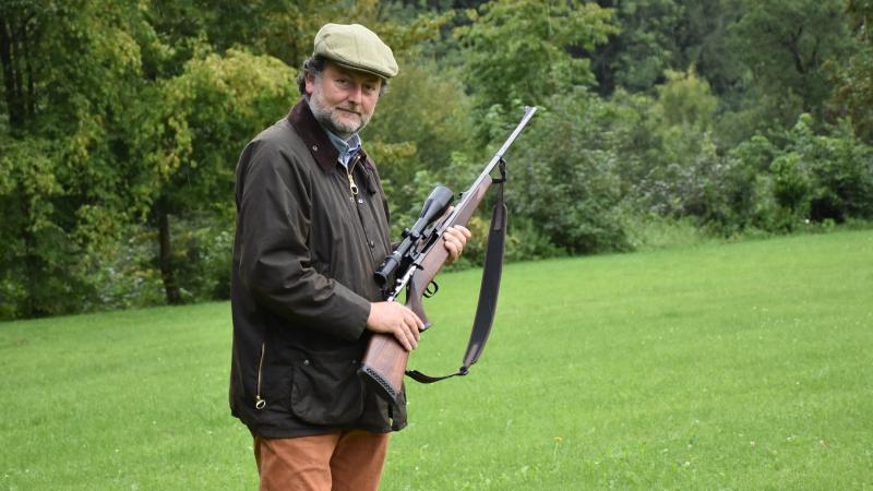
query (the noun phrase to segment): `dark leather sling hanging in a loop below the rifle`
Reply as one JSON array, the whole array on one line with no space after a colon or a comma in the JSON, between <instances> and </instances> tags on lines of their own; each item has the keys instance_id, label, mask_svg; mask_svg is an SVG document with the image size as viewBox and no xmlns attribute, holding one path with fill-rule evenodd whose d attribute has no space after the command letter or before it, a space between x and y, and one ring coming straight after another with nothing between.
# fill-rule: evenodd
<instances>
[{"instance_id":1,"label":"dark leather sling hanging in a loop below the rifle","mask_svg":"<svg viewBox=\"0 0 873 491\"><path fill-rule=\"evenodd\" d=\"M467 343L467 352L464 355L464 364L454 373L443 376L426 375L418 370L407 370L406 374L422 384L431 384L456 375L466 375L470 367L479 360L498 308L500 294L500 277L503 273L503 252L506 244L506 204L503 200L503 183L506 182L506 163L501 158L499 163L500 179L494 179L497 187L497 201L491 214L491 226L488 231L488 249L485 253L485 271L482 283L479 287L479 303L476 307L476 318L473 321L470 339Z\"/></svg>"}]
</instances>

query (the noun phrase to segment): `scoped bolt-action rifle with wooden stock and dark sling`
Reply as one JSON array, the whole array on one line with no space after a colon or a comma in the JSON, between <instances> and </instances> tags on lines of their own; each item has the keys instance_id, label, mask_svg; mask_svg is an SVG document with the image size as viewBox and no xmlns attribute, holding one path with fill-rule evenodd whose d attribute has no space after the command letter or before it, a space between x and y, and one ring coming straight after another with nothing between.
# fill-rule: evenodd
<instances>
[{"instance_id":1,"label":"scoped bolt-action rifle with wooden stock and dark sling","mask_svg":"<svg viewBox=\"0 0 873 491\"><path fill-rule=\"evenodd\" d=\"M444 187L436 187L431 192L424 202L418 220L411 228L404 230L403 241L385 258L385 261L374 274L387 301L396 301L397 297L406 290L406 307L421 319L424 323L423 330L430 327L430 321L424 314L421 298L430 297L436 292L436 284L433 283L433 278L449 258L449 251L442 243L443 233L453 225L466 226L476 208L482 202L486 191L491 184L500 184L498 204L494 206L494 213L491 218L479 306L462 368L451 375L440 378L431 378L417 371L407 371L406 364L409 354L393 335L373 334L370 339L358 374L366 382L372 384L383 397L394 404L397 403L397 397L402 391L404 373L423 383L435 382L455 375L466 375L469 367L478 360L485 348L497 309L506 233L506 206L503 203L506 163L503 160L503 154L513 144L536 111L536 107L525 108L522 121L474 181L473 185L461 194L461 201L451 213L449 213L449 208L454 199L452 191ZM500 178L491 177L494 168L499 168Z\"/></svg>"}]
</instances>

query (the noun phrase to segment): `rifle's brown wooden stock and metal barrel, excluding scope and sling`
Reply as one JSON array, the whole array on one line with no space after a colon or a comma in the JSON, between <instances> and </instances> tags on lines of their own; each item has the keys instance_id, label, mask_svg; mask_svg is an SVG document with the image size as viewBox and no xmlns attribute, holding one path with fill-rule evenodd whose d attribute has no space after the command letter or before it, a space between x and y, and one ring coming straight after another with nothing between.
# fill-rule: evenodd
<instances>
[{"instance_id":1,"label":"rifle's brown wooden stock and metal barrel, excluding scope and sling","mask_svg":"<svg viewBox=\"0 0 873 491\"><path fill-rule=\"evenodd\" d=\"M536 112L536 108L527 108L525 110L525 116L515 131L510 135L488 166L486 166L485 170L479 175L470 189L463 193L458 205L439 224L439 226L433 228L430 236L421 239L420 249L414 251L416 260L407 271L408 274L411 274L411 278L409 278L407 284L405 306L415 312L424 323L424 328L422 331L430 327L430 321L424 313L421 298L449 259L449 251L443 244L443 232L453 225L466 226L469 223L473 214L479 207L479 204L485 199L486 192L493 182L490 176L491 171L503 160L503 154L518 136L518 133L521 133L534 116L534 112ZM388 300L393 300L393 296L390 297ZM358 374L364 382L371 384L385 399L392 404L397 404L400 391L403 390L403 376L406 373L409 352L393 335L373 333L370 344L367 347L367 352L363 355Z\"/></svg>"}]
</instances>

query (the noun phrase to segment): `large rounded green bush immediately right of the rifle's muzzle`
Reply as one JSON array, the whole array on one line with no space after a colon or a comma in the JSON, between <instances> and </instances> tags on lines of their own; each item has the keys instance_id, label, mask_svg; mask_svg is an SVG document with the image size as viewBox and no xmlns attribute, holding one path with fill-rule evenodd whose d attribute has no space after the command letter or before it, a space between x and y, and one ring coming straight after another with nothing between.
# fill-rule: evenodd
<instances>
[{"instance_id":1,"label":"large rounded green bush immediately right of the rifle's muzzle","mask_svg":"<svg viewBox=\"0 0 873 491\"><path fill-rule=\"evenodd\" d=\"M550 99L514 148L507 203L546 243L570 253L626 250L620 158L607 133L617 107L584 89ZM550 253L547 248L542 253Z\"/></svg>"}]
</instances>

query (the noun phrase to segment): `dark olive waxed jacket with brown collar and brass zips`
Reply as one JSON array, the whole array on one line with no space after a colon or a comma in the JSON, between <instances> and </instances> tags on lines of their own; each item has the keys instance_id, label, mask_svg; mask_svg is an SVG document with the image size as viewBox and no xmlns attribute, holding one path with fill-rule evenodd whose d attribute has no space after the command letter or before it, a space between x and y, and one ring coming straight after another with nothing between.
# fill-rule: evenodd
<instances>
[{"instance_id":1,"label":"dark olive waxed jacket with brown collar and brass zips","mask_svg":"<svg viewBox=\"0 0 873 491\"><path fill-rule=\"evenodd\" d=\"M356 373L391 241L373 163L348 167L302 99L237 166L230 408L264 438L406 426Z\"/></svg>"}]
</instances>

